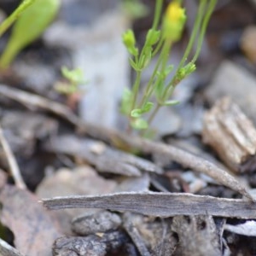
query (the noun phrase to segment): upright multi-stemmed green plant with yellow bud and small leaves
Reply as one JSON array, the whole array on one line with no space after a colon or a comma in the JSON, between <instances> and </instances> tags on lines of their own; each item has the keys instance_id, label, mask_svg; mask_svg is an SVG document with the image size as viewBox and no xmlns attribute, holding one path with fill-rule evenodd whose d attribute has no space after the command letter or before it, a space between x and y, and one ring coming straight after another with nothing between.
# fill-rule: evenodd
<instances>
[{"instance_id":1,"label":"upright multi-stemmed green plant with yellow bud and small leaves","mask_svg":"<svg viewBox=\"0 0 256 256\"><path fill-rule=\"evenodd\" d=\"M148 30L142 49L137 48L136 38L131 30L123 35L123 42L131 55L129 60L131 67L136 72L134 84L131 90L125 89L121 104L121 113L125 114L130 121L130 131L131 128L147 129L160 107L177 104L177 101L171 100L173 91L180 81L195 72L195 61L200 54L207 25L217 0L200 0L189 43L181 61L174 68L168 64L169 55L172 45L182 37L187 18L181 3L182 0L169 3L159 29L163 0L156 0L153 25ZM195 54L189 58L194 45L196 46ZM158 55L158 59L154 71L143 89L142 98L139 98L142 73L155 55ZM172 72L172 79L168 80ZM152 99L154 102L151 102ZM145 113L149 113L148 119L144 118Z\"/></svg>"}]
</instances>

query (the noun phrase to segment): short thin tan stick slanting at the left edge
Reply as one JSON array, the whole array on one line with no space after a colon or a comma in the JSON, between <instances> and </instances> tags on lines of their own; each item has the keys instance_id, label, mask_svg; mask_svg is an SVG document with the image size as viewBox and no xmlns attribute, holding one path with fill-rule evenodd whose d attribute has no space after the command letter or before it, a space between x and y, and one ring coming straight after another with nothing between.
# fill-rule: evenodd
<instances>
[{"instance_id":1,"label":"short thin tan stick slanting at the left edge","mask_svg":"<svg viewBox=\"0 0 256 256\"><path fill-rule=\"evenodd\" d=\"M15 160L15 156L9 147L9 143L6 141L5 137L3 136L3 130L0 127L0 143L3 147L3 152L6 156L6 159L9 164L9 170L11 172L12 177L15 180L15 184L20 189L26 189L26 183L24 183L23 178L20 175L19 166Z\"/></svg>"}]
</instances>

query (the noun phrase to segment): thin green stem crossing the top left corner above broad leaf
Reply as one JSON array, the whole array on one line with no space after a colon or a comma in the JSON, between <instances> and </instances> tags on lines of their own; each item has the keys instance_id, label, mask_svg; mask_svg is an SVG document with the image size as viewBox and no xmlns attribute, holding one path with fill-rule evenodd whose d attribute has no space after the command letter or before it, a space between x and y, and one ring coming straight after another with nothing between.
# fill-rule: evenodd
<instances>
[{"instance_id":1,"label":"thin green stem crossing the top left corner above broad leaf","mask_svg":"<svg viewBox=\"0 0 256 256\"><path fill-rule=\"evenodd\" d=\"M3 20L2 24L0 25L0 37L9 29L9 26L11 26L15 20L19 18L21 13L35 1L36 0L24 0L6 20Z\"/></svg>"}]
</instances>

